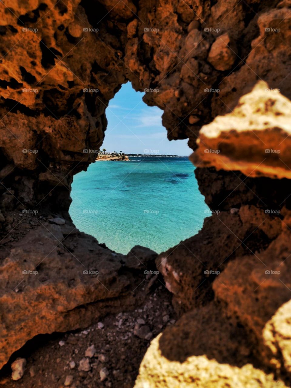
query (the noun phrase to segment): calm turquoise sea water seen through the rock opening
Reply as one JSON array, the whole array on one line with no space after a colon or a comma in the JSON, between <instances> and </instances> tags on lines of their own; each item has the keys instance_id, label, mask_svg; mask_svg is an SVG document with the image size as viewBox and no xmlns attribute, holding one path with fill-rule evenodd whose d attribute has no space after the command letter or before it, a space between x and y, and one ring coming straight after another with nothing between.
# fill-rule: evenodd
<instances>
[{"instance_id":1,"label":"calm turquoise sea water seen through the rock opening","mask_svg":"<svg viewBox=\"0 0 291 388\"><path fill-rule=\"evenodd\" d=\"M75 175L76 227L116 252L142 245L160 253L198 232L207 216L187 158L97 161Z\"/></svg>"}]
</instances>

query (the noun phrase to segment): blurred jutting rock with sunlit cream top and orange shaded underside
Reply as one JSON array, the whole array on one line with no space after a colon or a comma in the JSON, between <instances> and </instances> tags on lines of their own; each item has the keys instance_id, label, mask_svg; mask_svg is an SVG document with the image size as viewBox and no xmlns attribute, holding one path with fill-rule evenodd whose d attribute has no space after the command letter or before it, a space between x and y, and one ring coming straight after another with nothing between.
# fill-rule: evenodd
<instances>
[{"instance_id":1,"label":"blurred jutting rock with sunlit cream top and orange shaded underside","mask_svg":"<svg viewBox=\"0 0 291 388\"><path fill-rule=\"evenodd\" d=\"M191 155L200 167L247 176L291 178L291 102L259 81L231 113L204 125Z\"/></svg>"}]
</instances>

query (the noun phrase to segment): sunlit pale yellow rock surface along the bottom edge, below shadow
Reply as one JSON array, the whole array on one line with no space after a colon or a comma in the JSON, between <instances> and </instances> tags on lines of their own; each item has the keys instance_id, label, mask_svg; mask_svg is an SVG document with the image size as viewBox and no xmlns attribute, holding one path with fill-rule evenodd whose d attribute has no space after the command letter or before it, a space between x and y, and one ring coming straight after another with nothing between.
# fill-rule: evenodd
<instances>
[{"instance_id":1,"label":"sunlit pale yellow rock surface along the bottom edge, below shadow","mask_svg":"<svg viewBox=\"0 0 291 388\"><path fill-rule=\"evenodd\" d=\"M159 348L161 336L145 353L134 388L286 388L281 380L251 364L239 368L205 355L188 357L183 363L170 361Z\"/></svg>"}]
</instances>

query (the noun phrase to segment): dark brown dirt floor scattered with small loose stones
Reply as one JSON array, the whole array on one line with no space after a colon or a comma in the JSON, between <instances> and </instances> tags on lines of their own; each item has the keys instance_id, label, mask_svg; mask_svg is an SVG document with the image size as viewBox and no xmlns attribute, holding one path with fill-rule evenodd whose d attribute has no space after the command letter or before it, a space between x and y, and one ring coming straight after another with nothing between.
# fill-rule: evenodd
<instances>
[{"instance_id":1,"label":"dark brown dirt floor scattered with small loose stones","mask_svg":"<svg viewBox=\"0 0 291 388\"><path fill-rule=\"evenodd\" d=\"M151 339L175 318L171 294L157 280L134 311L107 315L85 330L28 341L2 369L0 387L132 388ZM23 377L13 381L10 364L17 357L25 358L26 366Z\"/></svg>"}]
</instances>

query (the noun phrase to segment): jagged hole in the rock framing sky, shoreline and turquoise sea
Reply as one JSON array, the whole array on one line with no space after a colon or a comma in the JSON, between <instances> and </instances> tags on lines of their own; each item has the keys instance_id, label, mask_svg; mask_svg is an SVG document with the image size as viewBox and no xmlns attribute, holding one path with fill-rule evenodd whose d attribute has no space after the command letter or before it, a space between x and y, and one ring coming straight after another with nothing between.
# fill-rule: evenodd
<instances>
[{"instance_id":1,"label":"jagged hole in the rock framing sky, shoreline and turquoise sea","mask_svg":"<svg viewBox=\"0 0 291 388\"><path fill-rule=\"evenodd\" d=\"M70 215L76 227L110 249L142 245L160 253L194 236L208 216L187 140L166 137L163 111L131 83L109 102L99 158L74 176ZM123 156L124 152L124 156ZM127 160L105 160L128 156Z\"/></svg>"}]
</instances>

